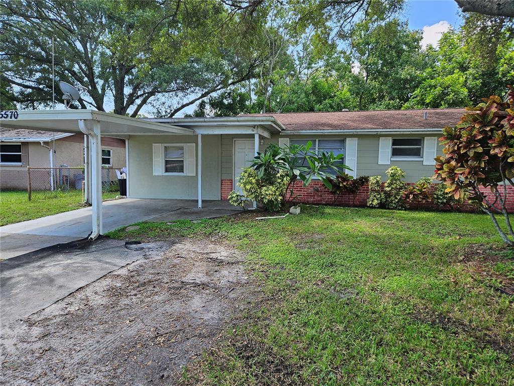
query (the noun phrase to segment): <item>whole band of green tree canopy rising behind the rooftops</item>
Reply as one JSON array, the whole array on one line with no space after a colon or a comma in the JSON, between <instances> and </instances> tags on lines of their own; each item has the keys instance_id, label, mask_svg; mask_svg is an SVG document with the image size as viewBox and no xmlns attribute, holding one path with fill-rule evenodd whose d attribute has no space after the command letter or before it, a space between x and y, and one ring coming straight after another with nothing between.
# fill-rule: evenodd
<instances>
[{"instance_id":1,"label":"whole band of green tree canopy rising behind the rooftops","mask_svg":"<svg viewBox=\"0 0 514 386\"><path fill-rule=\"evenodd\" d=\"M511 17L465 13L423 47L402 0L0 6L2 106L50 106L52 37L56 81L86 89L75 107L131 116L465 107L514 82Z\"/></svg>"}]
</instances>

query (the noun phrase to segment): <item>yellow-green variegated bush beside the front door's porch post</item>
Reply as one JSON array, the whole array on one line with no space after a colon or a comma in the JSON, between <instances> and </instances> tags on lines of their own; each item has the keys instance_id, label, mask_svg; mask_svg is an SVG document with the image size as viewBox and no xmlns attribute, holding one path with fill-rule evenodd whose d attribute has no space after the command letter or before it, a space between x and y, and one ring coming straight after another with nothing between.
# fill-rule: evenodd
<instances>
[{"instance_id":1,"label":"yellow-green variegated bush beside the front door's porch post","mask_svg":"<svg viewBox=\"0 0 514 386\"><path fill-rule=\"evenodd\" d=\"M229 201L236 206L243 206L248 200L256 201L264 205L266 210L276 212L282 207L288 181L287 174L282 170L274 176L267 175L260 179L255 169L244 168L237 180L237 186L243 190L243 195L234 190L230 192Z\"/></svg>"}]
</instances>

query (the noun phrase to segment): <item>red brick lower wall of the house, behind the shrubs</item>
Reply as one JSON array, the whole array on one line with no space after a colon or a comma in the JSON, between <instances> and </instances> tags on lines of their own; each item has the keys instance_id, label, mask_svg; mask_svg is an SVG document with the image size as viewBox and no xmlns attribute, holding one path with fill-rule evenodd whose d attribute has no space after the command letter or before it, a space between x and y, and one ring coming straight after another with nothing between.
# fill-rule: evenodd
<instances>
[{"instance_id":1,"label":"red brick lower wall of the house, behind the shrubs","mask_svg":"<svg viewBox=\"0 0 514 386\"><path fill-rule=\"evenodd\" d=\"M435 189L435 184L430 187L430 194ZM227 200L229 193L233 189L233 184L231 179L222 180L222 200ZM514 186L507 186L507 209L509 213L514 213ZM492 197L492 193L489 189L482 190L486 197ZM301 181L295 183L293 187L293 192L296 196L295 202L302 202L306 204L327 204L327 205L338 205L338 206L366 206L366 202L368 201L368 186L362 187L357 196L355 197L355 202L353 195L351 194L341 194L337 200L334 200L334 195L323 185L321 181L311 181L308 186L303 186ZM492 200L494 201L494 200ZM413 209L438 209L436 205L432 202L423 202L418 204L411 205ZM474 211L476 207L472 205L465 205L462 210L465 211Z\"/></svg>"}]
</instances>

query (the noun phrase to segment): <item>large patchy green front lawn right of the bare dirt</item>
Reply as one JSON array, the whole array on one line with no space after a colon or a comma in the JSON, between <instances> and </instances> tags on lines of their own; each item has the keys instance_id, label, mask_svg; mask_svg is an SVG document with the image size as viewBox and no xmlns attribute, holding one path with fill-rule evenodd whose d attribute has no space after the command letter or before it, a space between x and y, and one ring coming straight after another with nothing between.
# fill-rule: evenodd
<instances>
[{"instance_id":1,"label":"large patchy green front lawn right of the bare dirt","mask_svg":"<svg viewBox=\"0 0 514 386\"><path fill-rule=\"evenodd\" d=\"M514 299L498 290L512 253L483 215L303 207L139 225L110 235L222 236L262 286L186 384L514 384Z\"/></svg>"}]
</instances>

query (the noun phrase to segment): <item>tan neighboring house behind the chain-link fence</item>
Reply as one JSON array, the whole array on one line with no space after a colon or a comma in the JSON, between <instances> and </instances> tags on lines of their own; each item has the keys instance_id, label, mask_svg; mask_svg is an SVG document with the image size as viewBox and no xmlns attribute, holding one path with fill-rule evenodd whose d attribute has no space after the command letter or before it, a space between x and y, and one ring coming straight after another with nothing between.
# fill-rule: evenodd
<instances>
[{"instance_id":1,"label":"tan neighboring house behind the chain-link fence","mask_svg":"<svg viewBox=\"0 0 514 386\"><path fill-rule=\"evenodd\" d=\"M102 137L101 146L105 167L125 166L124 139ZM84 166L82 134L0 128L0 189L27 189L27 166L50 167L53 149L53 167Z\"/></svg>"}]
</instances>

